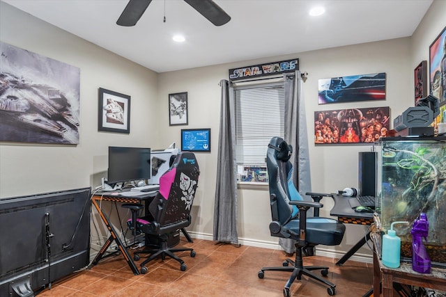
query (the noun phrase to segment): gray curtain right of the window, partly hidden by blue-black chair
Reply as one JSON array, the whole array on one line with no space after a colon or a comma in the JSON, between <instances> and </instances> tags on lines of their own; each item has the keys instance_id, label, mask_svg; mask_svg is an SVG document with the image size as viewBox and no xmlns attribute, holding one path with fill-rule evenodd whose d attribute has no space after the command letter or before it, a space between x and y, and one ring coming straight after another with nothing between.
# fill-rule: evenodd
<instances>
[{"instance_id":1,"label":"gray curtain right of the window, partly hidden by blue-black chair","mask_svg":"<svg viewBox=\"0 0 446 297\"><path fill-rule=\"evenodd\" d=\"M293 183L302 198L312 191L312 181L309 168L307 120L305 118L305 100L302 92L302 77L300 71L284 74L285 83L285 126L284 140L293 146L291 163L293 164ZM309 210L309 215L312 212ZM279 245L285 252L295 252L295 241L279 239Z\"/></svg>"}]
</instances>

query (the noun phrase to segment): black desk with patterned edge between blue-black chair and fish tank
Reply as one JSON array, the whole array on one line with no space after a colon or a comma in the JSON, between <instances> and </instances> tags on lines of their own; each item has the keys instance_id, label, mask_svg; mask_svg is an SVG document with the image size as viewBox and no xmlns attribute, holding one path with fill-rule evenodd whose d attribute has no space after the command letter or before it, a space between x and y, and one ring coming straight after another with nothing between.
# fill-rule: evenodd
<instances>
[{"instance_id":1,"label":"black desk with patterned edge between blue-black chair and fish tank","mask_svg":"<svg viewBox=\"0 0 446 297\"><path fill-rule=\"evenodd\" d=\"M337 216L337 219L341 223L355 224L355 225L371 225L374 223L374 214L369 212L357 212L351 208L348 199L350 197L345 197L343 195L333 194L334 207L330 211L330 216ZM370 230L367 232L366 236L362 237L353 248L348 250L346 254L336 262L336 265L344 264L357 250L364 246L367 241L370 240Z\"/></svg>"}]
</instances>

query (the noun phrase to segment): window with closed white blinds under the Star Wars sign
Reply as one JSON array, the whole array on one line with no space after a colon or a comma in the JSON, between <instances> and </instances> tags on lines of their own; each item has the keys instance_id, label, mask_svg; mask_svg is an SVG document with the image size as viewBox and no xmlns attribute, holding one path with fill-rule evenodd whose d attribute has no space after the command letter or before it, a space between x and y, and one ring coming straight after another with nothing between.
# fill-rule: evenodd
<instances>
[{"instance_id":1,"label":"window with closed white blinds under the Star Wars sign","mask_svg":"<svg viewBox=\"0 0 446 297\"><path fill-rule=\"evenodd\" d=\"M266 150L284 136L284 83L234 87L239 182L268 182Z\"/></svg>"}]
</instances>

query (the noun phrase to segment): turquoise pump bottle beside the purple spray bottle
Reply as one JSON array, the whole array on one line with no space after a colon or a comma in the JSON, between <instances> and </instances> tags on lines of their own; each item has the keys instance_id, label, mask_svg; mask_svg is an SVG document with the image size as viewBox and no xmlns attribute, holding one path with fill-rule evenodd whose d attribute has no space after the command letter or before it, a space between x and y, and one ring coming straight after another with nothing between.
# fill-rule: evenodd
<instances>
[{"instance_id":1,"label":"turquoise pump bottle beside the purple spray bottle","mask_svg":"<svg viewBox=\"0 0 446 297\"><path fill-rule=\"evenodd\" d=\"M401 254L401 239L397 236L397 232L393 230L394 224L408 224L405 221L393 222L390 230L383 235L383 264L389 268L398 268Z\"/></svg>"}]
</instances>

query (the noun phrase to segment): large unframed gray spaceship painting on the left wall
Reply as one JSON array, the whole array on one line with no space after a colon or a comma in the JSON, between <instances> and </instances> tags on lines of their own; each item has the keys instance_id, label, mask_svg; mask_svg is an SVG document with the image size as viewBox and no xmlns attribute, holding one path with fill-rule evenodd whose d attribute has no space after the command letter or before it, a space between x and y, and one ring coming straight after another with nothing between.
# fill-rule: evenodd
<instances>
[{"instance_id":1,"label":"large unframed gray spaceship painting on the left wall","mask_svg":"<svg viewBox=\"0 0 446 297\"><path fill-rule=\"evenodd\" d=\"M79 68L4 42L0 52L0 141L79 144Z\"/></svg>"}]
</instances>

